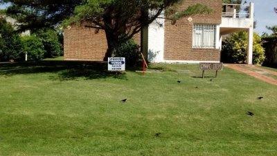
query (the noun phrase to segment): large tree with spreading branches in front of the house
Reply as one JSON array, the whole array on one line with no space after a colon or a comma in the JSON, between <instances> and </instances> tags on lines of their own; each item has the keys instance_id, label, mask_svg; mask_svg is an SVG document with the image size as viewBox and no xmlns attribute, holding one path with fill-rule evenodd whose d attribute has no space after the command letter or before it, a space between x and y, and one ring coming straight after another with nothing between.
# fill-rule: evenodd
<instances>
[{"instance_id":1,"label":"large tree with spreading branches in front of the house","mask_svg":"<svg viewBox=\"0 0 277 156\"><path fill-rule=\"evenodd\" d=\"M114 56L118 45L131 39L163 12L173 21L187 15L211 12L202 4L177 12L181 3L182 0L86 0L75 8L75 15L64 24L83 24L104 30L108 45L106 56Z\"/></svg>"}]
</instances>

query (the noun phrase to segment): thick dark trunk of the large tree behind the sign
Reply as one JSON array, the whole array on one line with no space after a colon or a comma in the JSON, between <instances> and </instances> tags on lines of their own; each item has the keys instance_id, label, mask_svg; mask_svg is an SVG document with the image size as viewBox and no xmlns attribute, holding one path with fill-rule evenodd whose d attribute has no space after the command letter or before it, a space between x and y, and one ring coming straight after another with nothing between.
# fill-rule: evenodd
<instances>
[{"instance_id":1,"label":"thick dark trunk of the large tree behind the sign","mask_svg":"<svg viewBox=\"0 0 277 156\"><path fill-rule=\"evenodd\" d=\"M118 44L118 40L116 40L118 37L115 37L112 33L109 33L107 31L105 31L105 33L107 38L108 49L105 54L104 60L107 61L108 58L115 57L116 49L119 46L119 44Z\"/></svg>"}]
</instances>

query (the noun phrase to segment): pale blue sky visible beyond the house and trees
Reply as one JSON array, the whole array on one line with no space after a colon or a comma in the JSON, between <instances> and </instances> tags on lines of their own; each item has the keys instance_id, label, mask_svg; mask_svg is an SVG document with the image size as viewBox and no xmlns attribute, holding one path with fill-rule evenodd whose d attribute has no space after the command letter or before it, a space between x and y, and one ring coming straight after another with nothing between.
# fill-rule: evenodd
<instances>
[{"instance_id":1,"label":"pale blue sky visible beyond the house and trees","mask_svg":"<svg viewBox=\"0 0 277 156\"><path fill-rule=\"evenodd\" d=\"M271 34L265 26L277 25L277 13L274 12L274 6L277 7L277 0L247 0L254 3L255 20L257 21L254 31L259 35L263 32ZM0 4L0 9L6 8Z\"/></svg>"}]
</instances>

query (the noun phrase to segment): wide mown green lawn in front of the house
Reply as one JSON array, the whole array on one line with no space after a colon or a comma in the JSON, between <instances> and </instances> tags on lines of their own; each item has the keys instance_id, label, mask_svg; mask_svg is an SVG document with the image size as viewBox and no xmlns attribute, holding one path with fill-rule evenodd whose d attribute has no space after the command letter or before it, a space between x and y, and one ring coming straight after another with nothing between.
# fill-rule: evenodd
<instances>
[{"instance_id":1,"label":"wide mown green lawn in front of the house","mask_svg":"<svg viewBox=\"0 0 277 156\"><path fill-rule=\"evenodd\" d=\"M276 155L276 86L228 68L150 68L161 72L0 64L0 155Z\"/></svg>"}]
</instances>

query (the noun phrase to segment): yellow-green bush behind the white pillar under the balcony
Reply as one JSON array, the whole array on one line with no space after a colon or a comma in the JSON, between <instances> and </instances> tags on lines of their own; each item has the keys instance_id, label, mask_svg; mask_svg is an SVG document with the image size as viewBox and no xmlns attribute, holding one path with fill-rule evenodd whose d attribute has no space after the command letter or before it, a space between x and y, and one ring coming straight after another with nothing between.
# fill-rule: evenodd
<instances>
[{"instance_id":1,"label":"yellow-green bush behind the white pillar under the balcony","mask_svg":"<svg viewBox=\"0 0 277 156\"><path fill-rule=\"evenodd\" d=\"M222 42L222 62L245 63L247 60L247 33L241 31L232 33ZM253 64L262 64L265 60L265 50L262 48L261 37L253 34Z\"/></svg>"}]
</instances>

